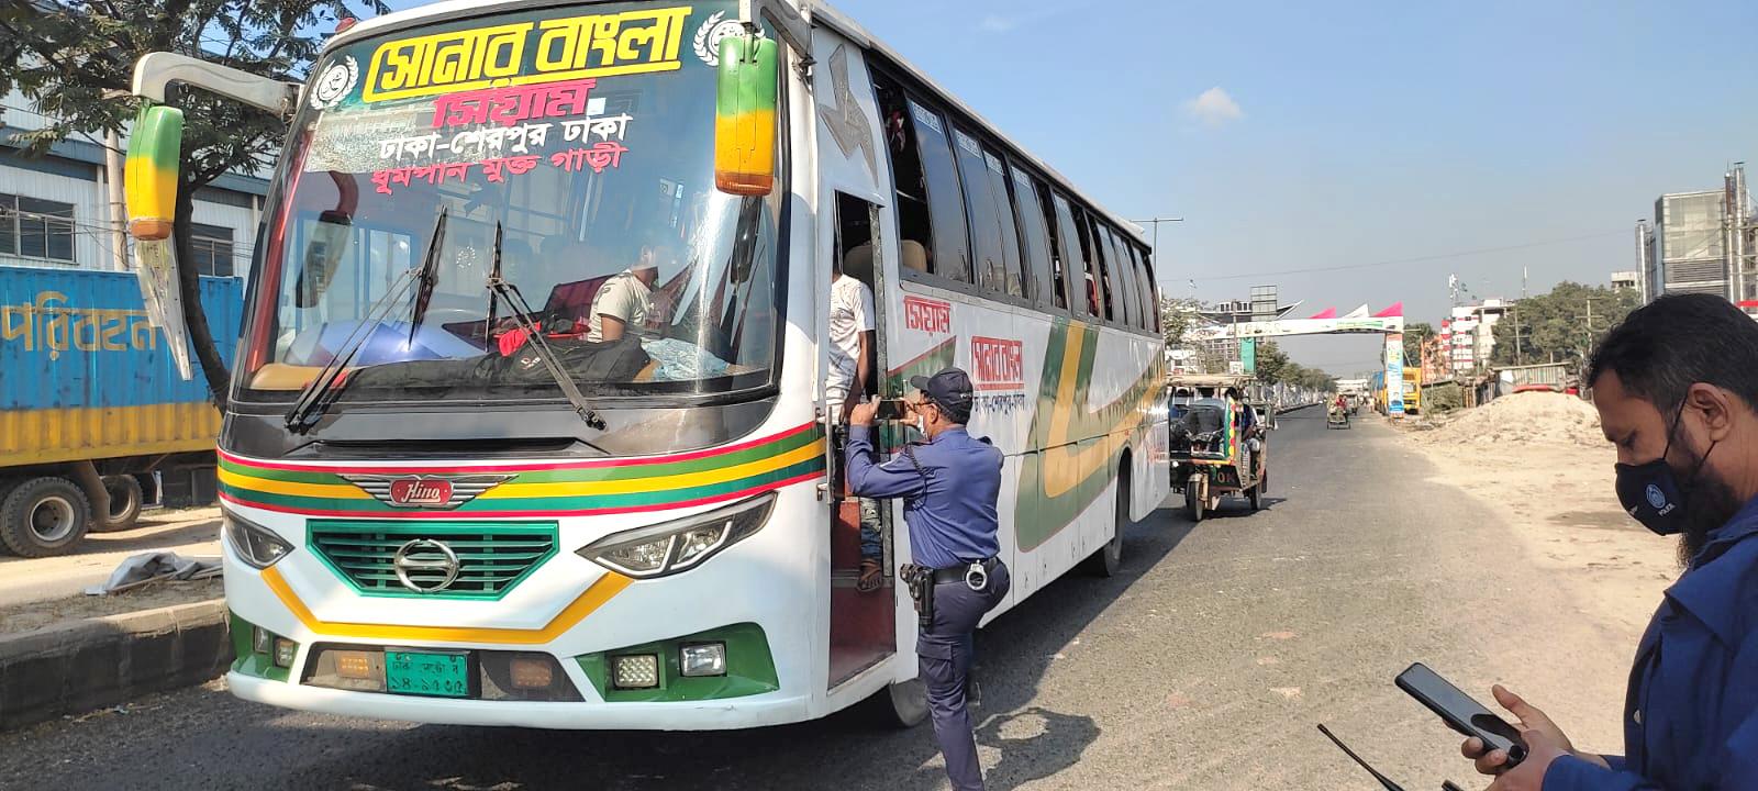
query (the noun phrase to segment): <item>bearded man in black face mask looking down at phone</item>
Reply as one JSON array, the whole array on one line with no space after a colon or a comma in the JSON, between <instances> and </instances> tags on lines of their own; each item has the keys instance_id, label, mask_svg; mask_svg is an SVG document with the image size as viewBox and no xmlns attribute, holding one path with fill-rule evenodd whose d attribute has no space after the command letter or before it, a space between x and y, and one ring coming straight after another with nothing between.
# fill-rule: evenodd
<instances>
[{"instance_id":1,"label":"bearded man in black face mask looking down at phone","mask_svg":"<svg viewBox=\"0 0 1758 791\"><path fill-rule=\"evenodd\" d=\"M1624 754L1575 751L1500 686L1528 756L1463 752L1491 791L1758 789L1758 322L1719 297L1656 299L1605 336L1587 385L1619 503L1677 534L1684 564L1637 647Z\"/></svg>"}]
</instances>

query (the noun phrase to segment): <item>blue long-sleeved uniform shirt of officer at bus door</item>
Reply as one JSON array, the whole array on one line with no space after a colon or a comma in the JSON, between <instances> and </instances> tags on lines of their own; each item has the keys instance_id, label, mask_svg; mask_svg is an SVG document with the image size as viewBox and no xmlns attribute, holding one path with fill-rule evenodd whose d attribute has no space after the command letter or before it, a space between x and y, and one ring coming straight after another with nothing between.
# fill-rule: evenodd
<instances>
[{"instance_id":1,"label":"blue long-sleeved uniform shirt of officer at bus door","mask_svg":"<svg viewBox=\"0 0 1758 791\"><path fill-rule=\"evenodd\" d=\"M933 441L911 445L914 464L905 454L875 464L872 427L851 425L846 450L851 492L904 497L914 562L951 568L1000 554L995 499L1002 454L988 439L948 429Z\"/></svg>"}]
</instances>

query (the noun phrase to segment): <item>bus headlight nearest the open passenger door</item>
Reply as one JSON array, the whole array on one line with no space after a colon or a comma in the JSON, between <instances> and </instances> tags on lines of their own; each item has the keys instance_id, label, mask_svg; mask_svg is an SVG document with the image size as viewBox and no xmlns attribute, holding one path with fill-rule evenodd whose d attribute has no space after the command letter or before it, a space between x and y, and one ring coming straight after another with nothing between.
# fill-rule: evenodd
<instances>
[{"instance_id":1,"label":"bus headlight nearest the open passenger door","mask_svg":"<svg viewBox=\"0 0 1758 791\"><path fill-rule=\"evenodd\" d=\"M577 554L612 571L652 578L687 571L768 522L775 492L672 522L612 533Z\"/></svg>"}]
</instances>

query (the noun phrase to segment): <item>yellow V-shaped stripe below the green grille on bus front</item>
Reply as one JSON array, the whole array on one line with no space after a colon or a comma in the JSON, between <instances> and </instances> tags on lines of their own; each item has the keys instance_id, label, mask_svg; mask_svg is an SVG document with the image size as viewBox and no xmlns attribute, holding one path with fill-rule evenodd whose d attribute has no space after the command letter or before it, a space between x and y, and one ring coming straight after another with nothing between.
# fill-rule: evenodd
<instances>
[{"instance_id":1,"label":"yellow V-shaped stripe below the green grille on bus front","mask_svg":"<svg viewBox=\"0 0 1758 791\"><path fill-rule=\"evenodd\" d=\"M543 645L563 636L568 629L573 629L580 620L585 620L607 601L614 599L619 592L629 587L635 580L622 577L619 573L607 571L598 582L587 585L573 601L568 603L548 624L540 629L501 629L501 628L473 628L473 626L396 626L396 624L355 624L341 620L322 620L311 613L299 594L287 585L281 573L269 566L262 570L262 582L269 585L276 599L287 606L287 612L294 613L306 629L315 631L320 636L329 638L350 638L362 640L369 643L397 643L397 642L441 642L441 643L490 643L490 645Z\"/></svg>"}]
</instances>

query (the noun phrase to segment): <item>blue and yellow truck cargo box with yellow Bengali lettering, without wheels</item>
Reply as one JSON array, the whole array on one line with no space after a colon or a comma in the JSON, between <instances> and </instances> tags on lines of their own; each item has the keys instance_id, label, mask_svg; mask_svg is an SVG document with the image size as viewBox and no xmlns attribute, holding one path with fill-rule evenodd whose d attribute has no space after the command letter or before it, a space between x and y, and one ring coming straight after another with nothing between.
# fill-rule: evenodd
<instances>
[{"instance_id":1,"label":"blue and yellow truck cargo box with yellow Bengali lettering, without wheels","mask_svg":"<svg viewBox=\"0 0 1758 791\"><path fill-rule=\"evenodd\" d=\"M202 278L230 364L239 278ZM220 413L195 353L185 381L132 272L0 267L0 469L213 448Z\"/></svg>"}]
</instances>

